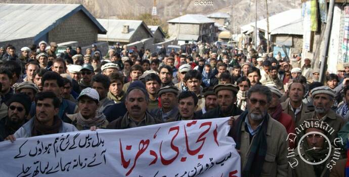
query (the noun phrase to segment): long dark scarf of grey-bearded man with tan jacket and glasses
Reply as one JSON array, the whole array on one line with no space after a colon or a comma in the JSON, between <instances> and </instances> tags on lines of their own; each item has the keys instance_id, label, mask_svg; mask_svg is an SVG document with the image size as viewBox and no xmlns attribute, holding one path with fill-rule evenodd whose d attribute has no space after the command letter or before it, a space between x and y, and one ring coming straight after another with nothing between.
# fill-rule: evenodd
<instances>
[{"instance_id":1,"label":"long dark scarf of grey-bearded man with tan jacket and glasses","mask_svg":"<svg viewBox=\"0 0 349 177\"><path fill-rule=\"evenodd\" d=\"M234 121L232 137L236 142L236 149L241 148L241 127L245 126L245 119L248 116L248 110L245 110L239 118ZM262 171L263 163L267 154L267 128L269 122L269 115L263 118L264 121L257 132L254 135L253 141L251 142L250 153L247 157L247 162L245 167L242 169L242 176L260 176Z\"/></svg>"}]
</instances>

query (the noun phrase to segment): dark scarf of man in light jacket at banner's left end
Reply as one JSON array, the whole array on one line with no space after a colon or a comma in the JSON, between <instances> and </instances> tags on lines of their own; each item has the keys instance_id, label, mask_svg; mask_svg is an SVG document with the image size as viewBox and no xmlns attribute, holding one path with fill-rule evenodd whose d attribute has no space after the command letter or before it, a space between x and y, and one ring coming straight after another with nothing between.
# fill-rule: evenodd
<instances>
[{"instance_id":1,"label":"dark scarf of man in light jacket at banner's left end","mask_svg":"<svg viewBox=\"0 0 349 177\"><path fill-rule=\"evenodd\" d=\"M31 130L31 136L40 136L40 135L50 135L50 134L58 134L59 130L62 126L62 120L58 116L54 116L53 124L52 126L47 126L42 124L39 120L37 120L36 116L33 117L34 119L34 126Z\"/></svg>"}]
</instances>

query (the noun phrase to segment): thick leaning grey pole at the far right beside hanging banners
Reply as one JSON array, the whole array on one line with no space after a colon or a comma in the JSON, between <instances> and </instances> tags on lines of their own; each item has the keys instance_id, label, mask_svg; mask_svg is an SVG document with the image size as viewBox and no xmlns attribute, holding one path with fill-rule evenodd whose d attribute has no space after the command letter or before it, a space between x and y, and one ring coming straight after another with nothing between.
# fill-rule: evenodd
<instances>
[{"instance_id":1,"label":"thick leaning grey pole at the far right beside hanging banners","mask_svg":"<svg viewBox=\"0 0 349 177\"><path fill-rule=\"evenodd\" d=\"M324 48L322 49L321 57L321 66L320 66L320 78L319 81L321 83L324 82L324 77L326 73L326 65L327 65L327 57L328 57L328 44L330 43L330 35L332 28L332 18L333 18L333 9L334 9L334 0L330 0L330 6L328 8L327 21L326 21L326 29L324 33ZM321 53L320 53L321 54Z\"/></svg>"}]
</instances>

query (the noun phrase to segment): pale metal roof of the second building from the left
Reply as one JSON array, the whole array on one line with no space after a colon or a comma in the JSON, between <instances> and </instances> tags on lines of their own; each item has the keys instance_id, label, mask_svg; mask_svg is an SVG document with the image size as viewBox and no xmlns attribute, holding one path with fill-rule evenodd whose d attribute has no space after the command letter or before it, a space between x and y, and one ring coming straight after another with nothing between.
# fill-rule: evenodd
<instances>
[{"instance_id":1,"label":"pale metal roof of the second building from the left","mask_svg":"<svg viewBox=\"0 0 349 177\"><path fill-rule=\"evenodd\" d=\"M142 20L115 20L115 19L97 19L104 28L107 29L107 34L98 34L98 38L110 39L111 41L129 42L129 39L134 35L135 31L143 26L153 37L153 33ZM122 33L123 25L128 25L128 33Z\"/></svg>"}]
</instances>

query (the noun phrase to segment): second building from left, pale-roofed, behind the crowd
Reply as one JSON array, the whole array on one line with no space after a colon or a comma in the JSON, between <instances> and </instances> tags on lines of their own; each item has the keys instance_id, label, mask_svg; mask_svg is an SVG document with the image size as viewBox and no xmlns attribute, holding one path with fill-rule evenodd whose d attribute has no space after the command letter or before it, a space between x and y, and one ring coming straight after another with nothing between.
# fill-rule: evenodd
<instances>
[{"instance_id":1,"label":"second building from left, pale-roofed, behind the crowd","mask_svg":"<svg viewBox=\"0 0 349 177\"><path fill-rule=\"evenodd\" d=\"M97 20L108 31L106 34L99 34L98 41L107 41L110 46L116 42L127 45L128 43L154 37L148 26L141 20Z\"/></svg>"}]
</instances>

